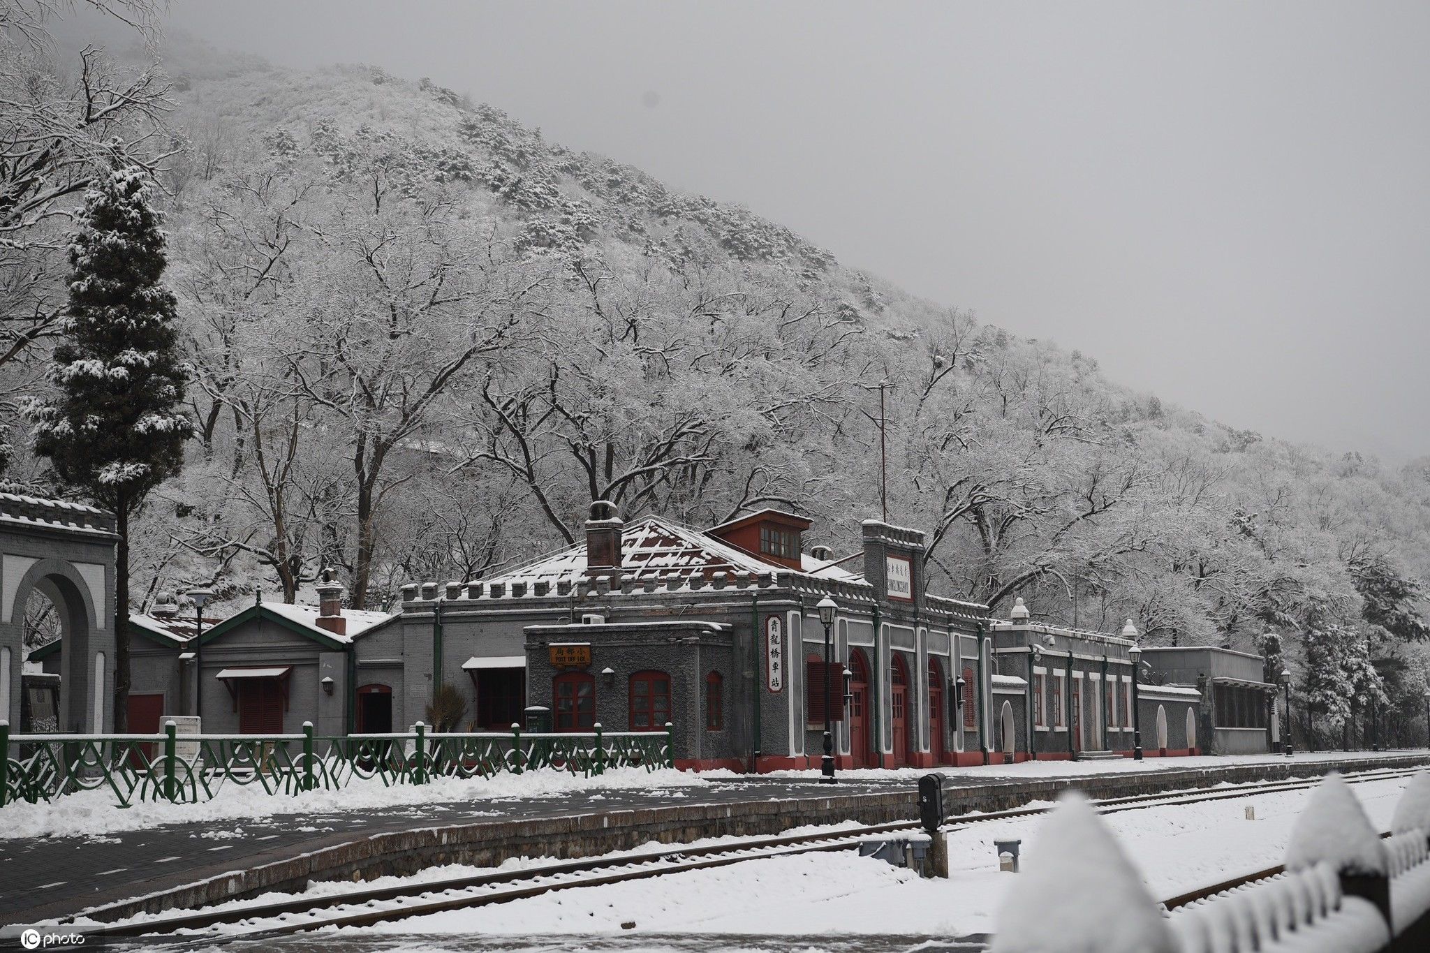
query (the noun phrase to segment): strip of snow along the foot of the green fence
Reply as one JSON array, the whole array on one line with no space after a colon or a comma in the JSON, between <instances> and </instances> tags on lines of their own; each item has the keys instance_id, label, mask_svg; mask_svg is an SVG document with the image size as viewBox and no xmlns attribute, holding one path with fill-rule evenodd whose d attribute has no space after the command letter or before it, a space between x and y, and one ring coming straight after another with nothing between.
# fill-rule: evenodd
<instances>
[{"instance_id":1,"label":"strip of snow along the foot of the green fence","mask_svg":"<svg viewBox=\"0 0 1430 953\"><path fill-rule=\"evenodd\" d=\"M303 794L269 794L259 784L225 784L213 800L196 804L140 802L132 807L114 803L107 787L66 794L50 803L24 802L0 807L0 840L7 837L69 837L144 830L162 824L207 820L256 820L279 814L326 814L376 807L428 807L438 803L472 803L506 797L553 797L578 792L659 790L704 787L709 780L676 770L646 772L641 767L609 769L599 777L563 772L496 774L490 779L442 777L430 784L385 786L380 780L353 782L337 790Z\"/></svg>"}]
</instances>

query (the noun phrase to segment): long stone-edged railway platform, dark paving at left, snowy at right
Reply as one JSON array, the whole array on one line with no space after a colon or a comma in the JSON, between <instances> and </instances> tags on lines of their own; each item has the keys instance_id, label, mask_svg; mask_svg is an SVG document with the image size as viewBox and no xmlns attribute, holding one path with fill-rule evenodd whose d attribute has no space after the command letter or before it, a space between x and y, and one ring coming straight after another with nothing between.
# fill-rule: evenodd
<instances>
[{"instance_id":1,"label":"long stone-edged railway platform, dark paving at left, snowy at right","mask_svg":"<svg viewBox=\"0 0 1430 953\"><path fill-rule=\"evenodd\" d=\"M1052 800L1068 787L1093 797L1118 797L1426 764L1430 753L1205 762L1213 759L1163 759L1141 769L1062 763L944 773L952 810L964 813ZM96 907L106 907L110 916L199 907L267 890L302 889L315 879L359 880L438 863L582 857L649 840L684 843L721 834L775 834L841 820L907 820L917 816L921 773L855 773L835 787L815 783L812 774L724 777L699 787L226 819L89 837L0 839L0 923L60 919Z\"/></svg>"}]
</instances>

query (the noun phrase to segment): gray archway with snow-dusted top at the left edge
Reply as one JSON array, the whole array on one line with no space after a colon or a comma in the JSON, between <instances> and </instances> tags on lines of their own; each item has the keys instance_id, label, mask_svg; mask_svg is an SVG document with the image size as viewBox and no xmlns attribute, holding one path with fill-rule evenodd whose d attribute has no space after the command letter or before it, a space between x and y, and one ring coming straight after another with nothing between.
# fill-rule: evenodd
<instances>
[{"instance_id":1,"label":"gray archway with snow-dusted top at the left edge","mask_svg":"<svg viewBox=\"0 0 1430 953\"><path fill-rule=\"evenodd\" d=\"M16 732L23 690L24 612L43 593L59 614L59 730L113 727L114 520L89 506L0 493L0 702ZM7 650L7 652L6 652ZM9 672L6 672L9 669Z\"/></svg>"}]
</instances>

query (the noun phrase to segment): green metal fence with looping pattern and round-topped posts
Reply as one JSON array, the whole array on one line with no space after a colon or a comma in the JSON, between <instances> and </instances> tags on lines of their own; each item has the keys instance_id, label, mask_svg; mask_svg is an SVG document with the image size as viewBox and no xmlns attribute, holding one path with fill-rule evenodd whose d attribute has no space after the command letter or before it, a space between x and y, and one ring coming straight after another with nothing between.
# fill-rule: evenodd
<instances>
[{"instance_id":1,"label":"green metal fence with looping pattern and round-topped posts","mask_svg":"<svg viewBox=\"0 0 1430 953\"><path fill-rule=\"evenodd\" d=\"M412 732L319 737L302 734L10 734L0 722L0 806L49 802L107 789L120 806L143 800L192 803L225 784L269 794L336 790L353 782L428 784L442 777L566 772L592 777L608 767L675 767L664 732Z\"/></svg>"}]
</instances>

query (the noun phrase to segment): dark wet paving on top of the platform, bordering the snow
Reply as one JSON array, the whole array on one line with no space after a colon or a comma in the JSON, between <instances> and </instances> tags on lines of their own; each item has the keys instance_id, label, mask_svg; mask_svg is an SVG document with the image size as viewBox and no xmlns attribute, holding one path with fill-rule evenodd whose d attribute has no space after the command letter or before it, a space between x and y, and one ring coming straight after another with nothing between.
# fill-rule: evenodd
<instances>
[{"instance_id":1,"label":"dark wet paving on top of the platform, bordering the snow","mask_svg":"<svg viewBox=\"0 0 1430 953\"><path fill-rule=\"evenodd\" d=\"M1017 784L1014 779L958 783ZM409 804L365 812L285 814L170 824L102 837L0 840L0 923L31 923L160 889L247 869L368 834L466 822L565 817L632 807L739 803L911 789L908 780L719 780L709 787L602 790L551 797Z\"/></svg>"}]
</instances>

